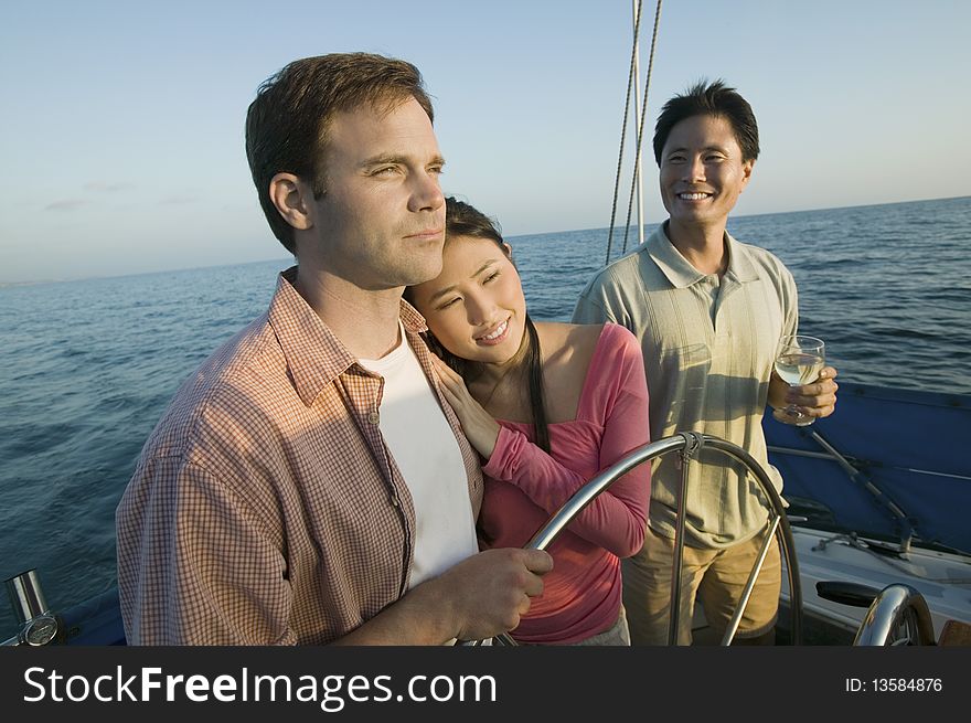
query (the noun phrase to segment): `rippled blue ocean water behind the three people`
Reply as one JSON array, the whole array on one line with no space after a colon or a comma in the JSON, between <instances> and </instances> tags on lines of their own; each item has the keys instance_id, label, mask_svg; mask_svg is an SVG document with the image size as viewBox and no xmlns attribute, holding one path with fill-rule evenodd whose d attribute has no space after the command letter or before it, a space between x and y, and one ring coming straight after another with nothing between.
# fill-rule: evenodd
<instances>
[{"instance_id":1,"label":"rippled blue ocean water behind the three people","mask_svg":"<svg viewBox=\"0 0 971 723\"><path fill-rule=\"evenodd\" d=\"M842 380L971 394L971 198L728 228L786 263L800 331L826 341ZM534 318L569 319L607 235L509 238ZM615 230L611 259L622 245ZM265 310L286 266L0 288L0 578L36 567L55 609L114 586L115 507L142 444L179 384ZM0 602L0 639L13 632Z\"/></svg>"}]
</instances>

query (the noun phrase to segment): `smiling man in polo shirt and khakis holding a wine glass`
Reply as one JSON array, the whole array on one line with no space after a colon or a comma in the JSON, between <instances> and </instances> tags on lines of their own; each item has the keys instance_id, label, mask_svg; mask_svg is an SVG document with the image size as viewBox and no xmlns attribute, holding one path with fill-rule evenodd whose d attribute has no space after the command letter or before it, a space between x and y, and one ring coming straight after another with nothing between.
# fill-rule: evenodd
<instances>
[{"instance_id":1,"label":"smiling man in polo shirt and khakis holding a wine glass","mask_svg":"<svg viewBox=\"0 0 971 723\"><path fill-rule=\"evenodd\" d=\"M829 416L836 370L823 366L801 386L773 373L781 338L797 333L796 283L776 256L725 231L758 157L755 115L721 81L698 83L664 105L653 147L669 219L587 285L573 321L613 321L641 340L651 439L687 430L727 439L747 449L781 491L781 477L768 464L765 408L788 424ZM623 561L632 645L669 639L676 457L655 460L652 480L644 546ZM692 641L696 598L719 637L727 628L766 530L756 490L743 466L711 450L703 448L691 465L679 645ZM780 583L779 550L771 545L736 642L773 641Z\"/></svg>"}]
</instances>

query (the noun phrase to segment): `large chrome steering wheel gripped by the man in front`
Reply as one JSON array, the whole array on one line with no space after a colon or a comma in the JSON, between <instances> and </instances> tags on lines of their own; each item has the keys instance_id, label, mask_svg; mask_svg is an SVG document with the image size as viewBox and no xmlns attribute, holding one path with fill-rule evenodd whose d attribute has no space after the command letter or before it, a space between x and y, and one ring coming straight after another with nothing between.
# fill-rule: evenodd
<instances>
[{"instance_id":1,"label":"large chrome steering wheel gripped by the man in front","mask_svg":"<svg viewBox=\"0 0 971 723\"><path fill-rule=\"evenodd\" d=\"M753 457L748 451L743 449L736 444L727 442L725 439L721 439L719 437L714 437L707 434L696 434L694 432L687 432L677 434L671 437L665 437L664 439L659 439L657 442L648 443L641 447L638 447L631 453L628 453L625 457L619 459L612 466L605 469L602 472L594 477L590 481L579 488L576 492L574 492L573 497L570 497L564 504L549 518L543 528L540 529L536 534L524 545L526 550L546 550L554 540L556 540L557 535L563 532L563 530L579 514L584 508L587 507L594 499L600 495L604 490L608 489L613 482L623 477L631 469L641 465L645 461L654 459L655 457L661 457L663 455L670 454L672 451L680 451L685 449L694 448L694 451L701 449L701 447L708 447L711 449L717 449L718 451L727 455L728 457L734 458L736 461L741 462L749 472L753 474L755 479L758 481L759 487L766 496L766 499L769 502L769 520L767 522L767 530L769 534L766 535L766 542L762 545L761 554L756 566L753 568L753 572L749 576L749 583L746 586L746 593L744 595L743 604L739 605L739 608L735 612L735 616L733 617L732 623L729 624L728 630L726 630L725 638L722 641L722 645L728 645L732 641L732 638L735 635L735 629L737 629L738 620L741 619L741 614L745 609L744 603L748 599L748 594L751 592L751 586L755 583L755 578L758 576L758 572L761 568L761 564L765 560L766 552L768 551L768 543L771 541L771 536L775 535L779 541L779 546L782 552L782 556L786 560L786 570L789 577L789 600L791 606L790 612L790 625L792 626L791 632L791 644L792 645L801 645L802 642L802 586L799 580L799 568L796 560L796 543L792 539L792 530L789 527L789 521L786 519L786 508L782 504L782 498L779 497L779 493L776 491L776 488L772 486L772 481L769 479L769 476L766 474L765 469L762 469L761 465ZM692 455L685 455L685 466L690 464ZM682 486L686 481L686 472L682 477ZM683 492L682 492L683 496ZM683 518L684 515L679 515ZM683 545L684 536L683 534L679 535L675 539L675 550L677 545ZM676 578L680 592L680 580L681 580L681 571L677 570ZM672 609L671 621L676 621L676 613L675 610L680 606L675 606ZM671 629L674 630L674 626L671 626ZM495 637L497 642L500 645L516 645L515 640L512 639L508 634L499 635Z\"/></svg>"}]
</instances>

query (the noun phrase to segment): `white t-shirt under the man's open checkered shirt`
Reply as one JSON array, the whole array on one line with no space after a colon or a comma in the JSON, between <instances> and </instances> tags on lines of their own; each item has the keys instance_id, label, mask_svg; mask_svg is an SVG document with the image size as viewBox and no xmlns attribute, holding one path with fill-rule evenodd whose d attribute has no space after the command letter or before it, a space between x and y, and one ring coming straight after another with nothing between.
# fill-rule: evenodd
<instances>
[{"instance_id":1,"label":"white t-shirt under the man's open checkered shirt","mask_svg":"<svg viewBox=\"0 0 971 723\"><path fill-rule=\"evenodd\" d=\"M479 545L462 454L415 352L399 333L394 351L359 362L384 379L378 426L415 506L414 587L476 554Z\"/></svg>"}]
</instances>

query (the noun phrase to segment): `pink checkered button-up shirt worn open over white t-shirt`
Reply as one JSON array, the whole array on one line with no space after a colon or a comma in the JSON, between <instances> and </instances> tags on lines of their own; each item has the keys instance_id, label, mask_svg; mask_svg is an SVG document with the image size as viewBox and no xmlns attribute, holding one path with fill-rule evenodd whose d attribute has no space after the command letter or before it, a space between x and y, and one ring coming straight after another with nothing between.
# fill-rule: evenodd
<instances>
[{"instance_id":1,"label":"pink checkered button-up shirt worn open over white t-shirt","mask_svg":"<svg viewBox=\"0 0 971 723\"><path fill-rule=\"evenodd\" d=\"M326 644L408 588L415 510L377 426L383 381L280 275L269 310L218 349L146 443L116 514L131 645ZM424 319L408 343L466 465L478 457L441 396Z\"/></svg>"}]
</instances>

